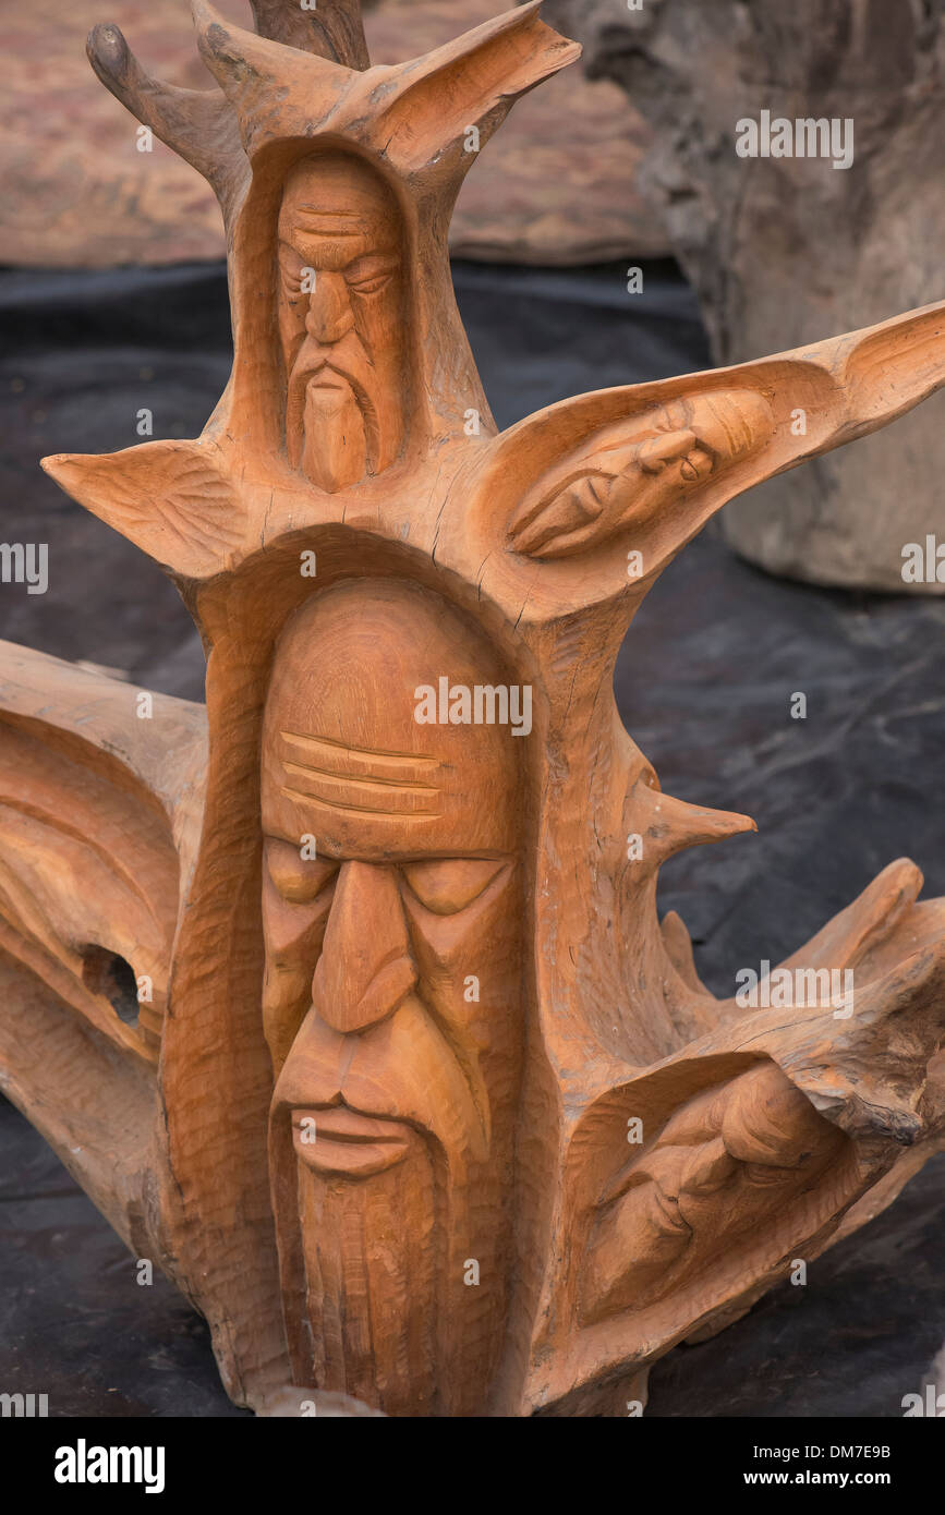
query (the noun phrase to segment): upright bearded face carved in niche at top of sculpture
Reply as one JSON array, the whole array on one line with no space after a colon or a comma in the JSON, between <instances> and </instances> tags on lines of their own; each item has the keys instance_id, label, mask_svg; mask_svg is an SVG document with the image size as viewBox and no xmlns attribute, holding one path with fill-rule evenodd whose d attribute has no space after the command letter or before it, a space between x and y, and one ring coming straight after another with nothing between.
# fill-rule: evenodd
<instances>
[{"instance_id":1,"label":"upright bearded face carved in niche at top of sculpture","mask_svg":"<svg viewBox=\"0 0 945 1515\"><path fill-rule=\"evenodd\" d=\"M359 159L291 171L277 301L289 462L327 492L388 468L404 430L401 220Z\"/></svg>"}]
</instances>

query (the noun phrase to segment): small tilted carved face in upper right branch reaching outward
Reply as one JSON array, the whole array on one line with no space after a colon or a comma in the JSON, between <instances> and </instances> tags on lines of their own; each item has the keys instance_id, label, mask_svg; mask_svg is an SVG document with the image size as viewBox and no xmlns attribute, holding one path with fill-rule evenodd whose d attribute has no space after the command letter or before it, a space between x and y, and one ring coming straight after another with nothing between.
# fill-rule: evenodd
<instances>
[{"instance_id":1,"label":"small tilted carved face in upper right branch reaching outward","mask_svg":"<svg viewBox=\"0 0 945 1515\"><path fill-rule=\"evenodd\" d=\"M671 400L607 429L542 480L512 518L515 551L566 558L641 527L718 479L772 433L771 408L753 389Z\"/></svg>"}]
</instances>

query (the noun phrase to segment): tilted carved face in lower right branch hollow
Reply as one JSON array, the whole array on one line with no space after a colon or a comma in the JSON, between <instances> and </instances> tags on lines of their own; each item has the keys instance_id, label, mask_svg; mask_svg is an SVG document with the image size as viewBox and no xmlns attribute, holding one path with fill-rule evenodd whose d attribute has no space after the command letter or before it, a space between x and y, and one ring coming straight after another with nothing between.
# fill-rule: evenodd
<instances>
[{"instance_id":1,"label":"tilted carved face in lower right branch hollow","mask_svg":"<svg viewBox=\"0 0 945 1515\"><path fill-rule=\"evenodd\" d=\"M582 1318L645 1309L757 1236L797 1239L792 1204L850 1142L775 1064L695 1095L604 1197L588 1251ZM822 1200L821 1200L822 1203ZM810 1232L816 1230L810 1224Z\"/></svg>"}]
</instances>

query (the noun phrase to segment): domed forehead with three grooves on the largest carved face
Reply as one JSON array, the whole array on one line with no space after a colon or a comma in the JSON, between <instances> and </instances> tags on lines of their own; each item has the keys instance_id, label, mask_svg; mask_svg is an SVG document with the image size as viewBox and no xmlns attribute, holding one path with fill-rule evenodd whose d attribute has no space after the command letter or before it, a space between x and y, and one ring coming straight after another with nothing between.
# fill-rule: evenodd
<instances>
[{"instance_id":1,"label":"domed forehead with three grooves on the largest carved face","mask_svg":"<svg viewBox=\"0 0 945 1515\"><path fill-rule=\"evenodd\" d=\"M264 824L294 838L310 818L336 856L512 850L522 747L512 718L524 723L507 677L482 630L430 591L377 579L323 591L276 650ZM430 718L418 691L432 686L468 692L462 723L447 700ZM530 729L530 703L526 714Z\"/></svg>"}]
</instances>

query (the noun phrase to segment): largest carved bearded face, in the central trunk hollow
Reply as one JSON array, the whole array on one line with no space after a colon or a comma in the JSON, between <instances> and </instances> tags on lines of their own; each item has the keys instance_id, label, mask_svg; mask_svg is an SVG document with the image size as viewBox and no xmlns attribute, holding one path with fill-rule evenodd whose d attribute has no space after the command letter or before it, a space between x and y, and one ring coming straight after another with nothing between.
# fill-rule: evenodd
<instances>
[{"instance_id":1,"label":"largest carved bearded face, in the central trunk hollow","mask_svg":"<svg viewBox=\"0 0 945 1515\"><path fill-rule=\"evenodd\" d=\"M509 727L416 724L415 689L444 671L498 680L436 597L345 583L289 624L264 729L295 1373L400 1413L476 1403L501 1347L524 1035L518 744Z\"/></svg>"}]
</instances>

